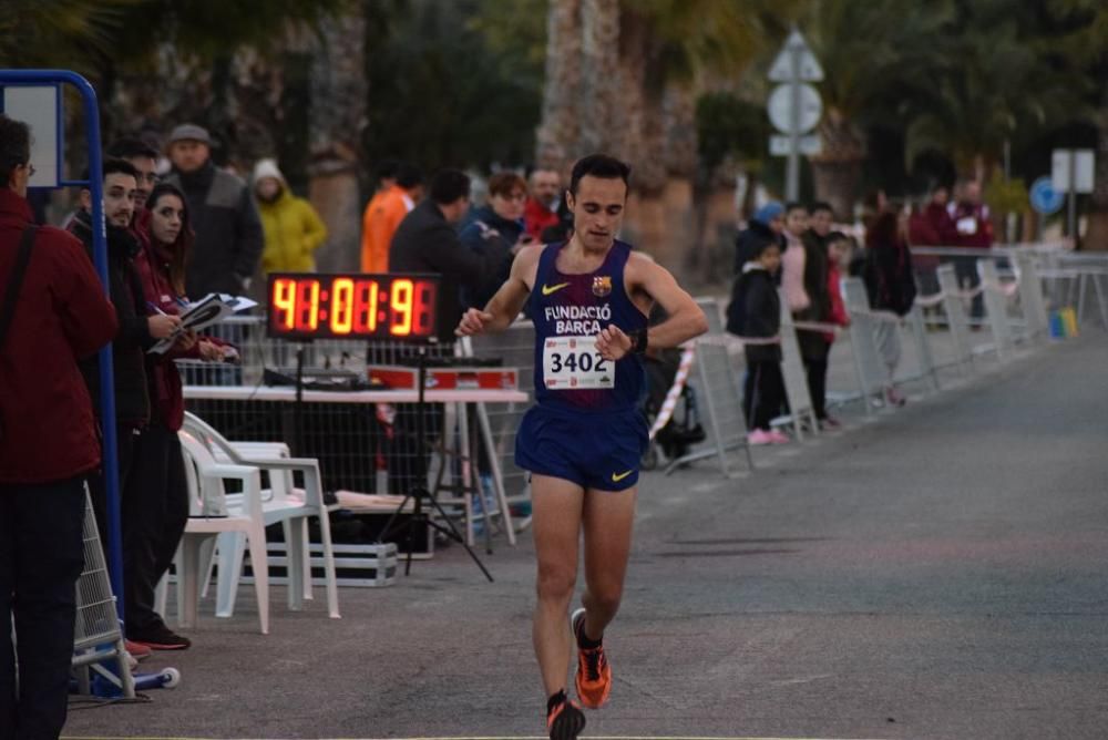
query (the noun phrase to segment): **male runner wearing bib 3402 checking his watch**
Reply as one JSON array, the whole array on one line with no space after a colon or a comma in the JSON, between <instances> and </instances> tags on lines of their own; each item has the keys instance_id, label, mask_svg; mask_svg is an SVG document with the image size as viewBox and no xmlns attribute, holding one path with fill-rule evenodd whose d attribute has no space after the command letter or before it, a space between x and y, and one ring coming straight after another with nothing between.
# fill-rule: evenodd
<instances>
[{"instance_id":1,"label":"male runner wearing bib 3402 checking his watch","mask_svg":"<svg viewBox=\"0 0 1108 740\"><path fill-rule=\"evenodd\" d=\"M647 347L676 347L708 328L667 270L615 238L629 174L626 164L602 154L578 161L566 195L573 237L521 250L485 309L466 311L456 330L459 336L502 331L531 295L538 404L520 426L515 462L532 474L538 561L534 645L552 740L574 740L585 726L581 707L565 691L571 630L581 703L596 709L612 689L602 638L623 595L647 443L638 409L645 391L639 354ZM654 301L669 319L647 330ZM574 611L566 629L582 533L584 608Z\"/></svg>"}]
</instances>

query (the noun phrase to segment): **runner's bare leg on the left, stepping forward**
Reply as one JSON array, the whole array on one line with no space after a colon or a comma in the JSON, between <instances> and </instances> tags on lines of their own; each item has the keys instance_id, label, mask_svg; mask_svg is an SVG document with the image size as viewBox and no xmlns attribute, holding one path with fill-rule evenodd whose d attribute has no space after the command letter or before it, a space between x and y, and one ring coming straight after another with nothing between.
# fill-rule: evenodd
<instances>
[{"instance_id":1,"label":"runner's bare leg on the left, stepping forward","mask_svg":"<svg viewBox=\"0 0 1108 740\"><path fill-rule=\"evenodd\" d=\"M532 528L538 573L533 640L546 696L566 686L571 639L566 620L577 580L577 547L585 492L550 475L531 476Z\"/></svg>"}]
</instances>

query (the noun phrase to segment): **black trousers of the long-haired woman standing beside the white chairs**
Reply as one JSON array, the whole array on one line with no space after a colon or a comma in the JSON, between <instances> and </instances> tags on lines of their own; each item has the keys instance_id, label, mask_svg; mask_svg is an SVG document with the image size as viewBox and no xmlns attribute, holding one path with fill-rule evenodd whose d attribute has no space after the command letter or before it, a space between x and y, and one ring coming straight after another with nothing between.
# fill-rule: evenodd
<instances>
[{"instance_id":1,"label":"black trousers of the long-haired woman standing beside the white chairs","mask_svg":"<svg viewBox=\"0 0 1108 740\"><path fill-rule=\"evenodd\" d=\"M123 593L129 636L161 626L154 589L188 522L188 489L177 433L152 422L135 438L123 490Z\"/></svg>"}]
</instances>

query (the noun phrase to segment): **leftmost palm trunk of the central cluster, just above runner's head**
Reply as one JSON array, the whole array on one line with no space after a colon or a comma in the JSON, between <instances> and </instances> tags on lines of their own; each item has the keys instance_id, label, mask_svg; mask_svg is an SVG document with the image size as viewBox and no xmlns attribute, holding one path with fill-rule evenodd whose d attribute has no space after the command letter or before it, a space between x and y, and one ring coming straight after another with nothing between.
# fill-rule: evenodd
<instances>
[{"instance_id":1,"label":"leftmost palm trunk of the central cluster, just above runner's head","mask_svg":"<svg viewBox=\"0 0 1108 740\"><path fill-rule=\"evenodd\" d=\"M553 0L546 13L546 80L535 163L563 176L578 153L581 41L581 0Z\"/></svg>"}]
</instances>

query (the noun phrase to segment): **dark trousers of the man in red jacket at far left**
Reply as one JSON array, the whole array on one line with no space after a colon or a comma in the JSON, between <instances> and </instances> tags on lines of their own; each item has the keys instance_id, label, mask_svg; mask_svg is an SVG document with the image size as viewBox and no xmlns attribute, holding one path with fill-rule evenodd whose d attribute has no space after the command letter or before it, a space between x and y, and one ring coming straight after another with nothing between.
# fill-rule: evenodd
<instances>
[{"instance_id":1,"label":"dark trousers of the man in red jacket at far left","mask_svg":"<svg viewBox=\"0 0 1108 740\"><path fill-rule=\"evenodd\" d=\"M65 724L83 525L83 479L0 485L0 740L55 740Z\"/></svg>"}]
</instances>

